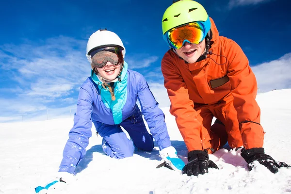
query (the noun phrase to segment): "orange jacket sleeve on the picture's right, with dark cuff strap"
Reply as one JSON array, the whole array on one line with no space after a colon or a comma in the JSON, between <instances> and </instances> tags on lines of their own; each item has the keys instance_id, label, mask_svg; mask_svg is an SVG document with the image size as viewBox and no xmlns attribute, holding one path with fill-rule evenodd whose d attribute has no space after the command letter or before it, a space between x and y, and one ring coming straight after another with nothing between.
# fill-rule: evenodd
<instances>
[{"instance_id":1,"label":"orange jacket sleeve on the picture's right, with dark cuff strap","mask_svg":"<svg viewBox=\"0 0 291 194\"><path fill-rule=\"evenodd\" d=\"M257 80L240 46L226 42L226 58L233 104L240 123L242 142L246 149L262 147L264 131L260 125L260 108L256 101ZM251 121L251 122L249 122Z\"/></svg>"}]
</instances>

